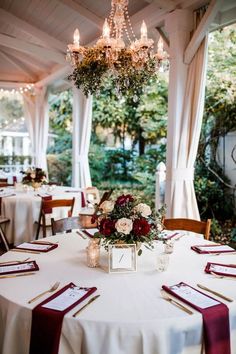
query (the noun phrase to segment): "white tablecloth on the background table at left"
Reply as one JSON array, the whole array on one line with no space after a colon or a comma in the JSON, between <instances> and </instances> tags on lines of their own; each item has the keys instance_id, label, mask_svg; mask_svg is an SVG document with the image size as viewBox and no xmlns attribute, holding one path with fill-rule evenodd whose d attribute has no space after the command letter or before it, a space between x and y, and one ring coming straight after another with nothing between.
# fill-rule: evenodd
<instances>
[{"instance_id":1,"label":"white tablecloth on the background table at left","mask_svg":"<svg viewBox=\"0 0 236 354\"><path fill-rule=\"evenodd\" d=\"M10 223L6 226L6 237L10 243L15 245L35 238L37 229L35 222L39 219L42 200L38 194L44 195L47 193L52 195L52 199L71 199L75 197L73 215L78 215L81 209L81 192L78 189L73 192L73 188L70 187L56 187L50 192L47 192L44 188L37 191L18 191L13 187L4 188L4 190L15 194L5 198L2 197L2 215L10 219ZM67 210L67 208L57 209L56 217L67 217Z\"/></svg>"}]
</instances>

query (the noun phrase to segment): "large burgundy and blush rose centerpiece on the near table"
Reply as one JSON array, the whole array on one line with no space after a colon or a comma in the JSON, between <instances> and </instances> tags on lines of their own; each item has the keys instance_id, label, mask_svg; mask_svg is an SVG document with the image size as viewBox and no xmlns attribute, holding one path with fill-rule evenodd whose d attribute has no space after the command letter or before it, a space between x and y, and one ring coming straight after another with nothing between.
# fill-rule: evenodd
<instances>
[{"instance_id":1,"label":"large burgundy and blush rose centerpiece on the near table","mask_svg":"<svg viewBox=\"0 0 236 354\"><path fill-rule=\"evenodd\" d=\"M96 211L99 232L94 237L100 238L108 249L109 244L134 243L144 244L152 249L153 241L163 230L162 217L165 208L157 212L130 194L121 195L115 201L103 201ZM138 250L141 255L142 250Z\"/></svg>"}]
</instances>

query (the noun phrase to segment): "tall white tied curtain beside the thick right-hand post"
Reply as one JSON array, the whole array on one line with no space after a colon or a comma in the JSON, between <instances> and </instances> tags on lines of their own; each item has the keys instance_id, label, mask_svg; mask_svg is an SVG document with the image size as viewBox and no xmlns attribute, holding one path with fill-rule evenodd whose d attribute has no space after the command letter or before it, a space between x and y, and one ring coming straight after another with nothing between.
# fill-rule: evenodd
<instances>
[{"instance_id":1,"label":"tall white tied curtain beside the thick right-hand post","mask_svg":"<svg viewBox=\"0 0 236 354\"><path fill-rule=\"evenodd\" d=\"M172 130L173 135L167 138L167 144L174 141L175 145L167 159L168 217L200 219L193 179L204 108L206 66L207 36L186 69L183 100L177 103L181 114L177 114L176 119L180 121L176 124L178 128Z\"/></svg>"}]
</instances>

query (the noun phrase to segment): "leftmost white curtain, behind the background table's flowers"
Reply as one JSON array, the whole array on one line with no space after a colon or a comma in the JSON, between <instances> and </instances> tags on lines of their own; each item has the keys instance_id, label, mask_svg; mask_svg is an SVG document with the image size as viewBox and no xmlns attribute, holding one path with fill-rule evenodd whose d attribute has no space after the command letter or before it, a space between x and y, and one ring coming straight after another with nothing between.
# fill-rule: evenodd
<instances>
[{"instance_id":1,"label":"leftmost white curtain, behind the background table's flowers","mask_svg":"<svg viewBox=\"0 0 236 354\"><path fill-rule=\"evenodd\" d=\"M24 113L32 145L33 165L47 171L48 94L47 88L35 88L35 95L24 93Z\"/></svg>"}]
</instances>

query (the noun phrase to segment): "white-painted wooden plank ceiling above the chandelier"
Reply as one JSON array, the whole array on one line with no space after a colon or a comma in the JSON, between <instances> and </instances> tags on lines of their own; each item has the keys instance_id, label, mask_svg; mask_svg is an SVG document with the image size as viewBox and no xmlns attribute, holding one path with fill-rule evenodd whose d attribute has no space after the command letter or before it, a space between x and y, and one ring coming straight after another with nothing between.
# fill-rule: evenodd
<instances>
[{"instance_id":1,"label":"white-painted wooden plank ceiling above the chandelier","mask_svg":"<svg viewBox=\"0 0 236 354\"><path fill-rule=\"evenodd\" d=\"M222 1L212 28L236 21L236 1ZM144 19L156 41L155 27L176 8L194 10L207 0L129 0L129 15L139 36ZM81 43L92 43L101 35L110 0L1 0L0 1L0 87L17 83L45 82L68 71L67 44L79 27ZM66 76L66 74L64 74ZM44 82L42 81L42 82Z\"/></svg>"}]
</instances>

